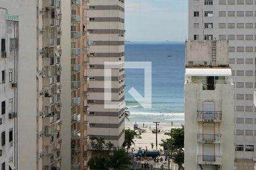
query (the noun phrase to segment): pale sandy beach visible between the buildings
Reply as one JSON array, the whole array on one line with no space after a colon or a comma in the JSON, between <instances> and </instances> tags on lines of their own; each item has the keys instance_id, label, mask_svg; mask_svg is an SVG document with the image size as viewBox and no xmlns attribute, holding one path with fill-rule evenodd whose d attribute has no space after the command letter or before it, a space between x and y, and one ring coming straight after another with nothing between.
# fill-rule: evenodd
<instances>
[{"instance_id":1,"label":"pale sandy beach visible between the buildings","mask_svg":"<svg viewBox=\"0 0 256 170\"><path fill-rule=\"evenodd\" d=\"M146 126L146 125L145 125ZM140 128L143 128L142 126L139 125ZM160 133L158 133L158 150L161 149L163 150L163 147L161 147L159 144L162 143L162 139L167 139L170 138L170 136L165 135L164 133L167 131L170 131L171 128L180 128L180 126L160 126ZM127 126L126 129L132 129L133 130L133 126ZM134 143L135 146L133 145L132 148L134 148L135 150L139 150L139 147L141 147L142 149L146 150L146 147L148 150L156 150L156 134L152 133L152 128L150 130L149 126L147 128L143 128L146 129L146 132L141 134L141 139L134 139ZM154 144L154 147L151 147L151 143Z\"/></svg>"}]
</instances>

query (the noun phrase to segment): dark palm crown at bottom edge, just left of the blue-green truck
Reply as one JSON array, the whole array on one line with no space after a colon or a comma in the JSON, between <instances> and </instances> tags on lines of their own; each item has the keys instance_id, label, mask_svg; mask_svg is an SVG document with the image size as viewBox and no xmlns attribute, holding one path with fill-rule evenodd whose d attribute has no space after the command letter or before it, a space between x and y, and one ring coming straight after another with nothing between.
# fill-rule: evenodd
<instances>
[{"instance_id":1,"label":"dark palm crown at bottom edge, just left of the blue-green truck","mask_svg":"<svg viewBox=\"0 0 256 170\"><path fill-rule=\"evenodd\" d=\"M128 165L133 164L132 158L125 154L125 150L114 150L114 154L109 157L108 167L112 169L126 169Z\"/></svg>"}]
</instances>

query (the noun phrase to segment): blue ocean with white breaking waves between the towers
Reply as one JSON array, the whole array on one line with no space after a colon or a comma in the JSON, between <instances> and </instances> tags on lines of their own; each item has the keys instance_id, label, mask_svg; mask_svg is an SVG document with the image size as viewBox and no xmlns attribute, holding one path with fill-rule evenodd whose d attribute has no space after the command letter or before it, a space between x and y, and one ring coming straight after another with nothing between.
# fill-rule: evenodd
<instances>
[{"instance_id":1,"label":"blue ocean with white breaking waves between the towers","mask_svg":"<svg viewBox=\"0 0 256 170\"><path fill-rule=\"evenodd\" d=\"M168 57L168 56L172 57ZM130 122L126 125L159 121L159 126L179 126L184 123L184 42L126 42L126 61L152 62L152 108L145 109L129 94L134 87L144 96L143 69L126 69L126 107Z\"/></svg>"}]
</instances>

